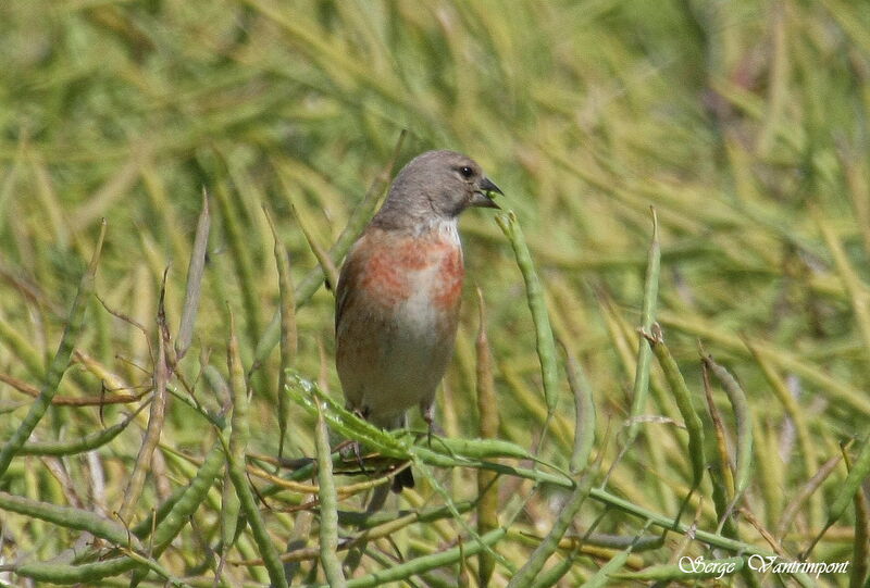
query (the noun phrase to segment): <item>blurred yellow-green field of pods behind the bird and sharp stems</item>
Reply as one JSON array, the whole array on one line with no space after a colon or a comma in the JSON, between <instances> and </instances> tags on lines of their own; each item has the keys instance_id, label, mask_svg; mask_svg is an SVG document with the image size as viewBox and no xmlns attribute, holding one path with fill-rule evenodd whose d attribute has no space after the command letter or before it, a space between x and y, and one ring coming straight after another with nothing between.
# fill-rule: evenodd
<instances>
[{"instance_id":1,"label":"blurred yellow-green field of pods behind the bird and sharp stems","mask_svg":"<svg viewBox=\"0 0 870 588\"><path fill-rule=\"evenodd\" d=\"M554 331L591 383L605 465L631 404L650 207L662 251L657 320L698 406L700 341L754 409L748 496L760 525L780 525L838 442L868 429L870 4L33 0L0 7L0 373L11 378L38 387L104 217L104 306L94 300L77 346L103 372L79 359L58 393L92 397L108 380L146 390L151 352L132 321L153 338L169 267L176 328L203 189L212 230L188 370L225 373L231 311L250 365L278 308L262 208L296 284L316 276L313 250L337 240L406 130L394 174L424 150L453 149L505 191L499 203L523 226ZM521 275L487 211L465 214L461 232L463 317L437 418L448 436L476 435L480 287L499 435L529 447L546 408ZM320 288L296 318L298 370L340 398L332 292ZM278 365L274 351L251 406L251 447L272 455ZM563 392L546 449L562 464L573 441L567 384ZM216 405L207 386L201 393ZM0 384L0 437L24 400ZM125 410L53 408L40 435L84 435ZM658 366L645 413L666 418L643 424L609 484L674 512L689 465ZM295 418L285 453L311 455L310 422ZM204 428L171 403L163 442L201 454ZM107 512L140 436L127 430L101 452ZM16 460L0 486L60 502L66 491L94 493L75 475L84 462L65 465L75 490L58 490L36 465ZM459 495L473 486L469 472L444 476ZM788 550L824 523L845 467L831 476L791 513L778 536ZM147 501L161 491L147 486ZM547 496L529 504L539 517L532 530L546 533L558 512ZM709 509L699 516L714 527ZM32 524L13 525L18 541ZM639 526L604 527L622 525ZM852 529L837 529L818 559L852 552ZM747 540L765 545L758 533L746 526ZM59 546L30 547L49 556Z\"/></svg>"}]
</instances>

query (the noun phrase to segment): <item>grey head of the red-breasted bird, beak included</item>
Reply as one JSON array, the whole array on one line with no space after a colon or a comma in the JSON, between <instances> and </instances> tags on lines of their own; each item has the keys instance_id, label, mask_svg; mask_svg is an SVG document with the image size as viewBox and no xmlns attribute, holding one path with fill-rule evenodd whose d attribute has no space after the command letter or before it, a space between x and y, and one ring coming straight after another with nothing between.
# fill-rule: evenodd
<instances>
[{"instance_id":1,"label":"grey head of the red-breasted bird, beak included","mask_svg":"<svg viewBox=\"0 0 870 588\"><path fill-rule=\"evenodd\" d=\"M502 193L473 159L456 151L426 151L396 176L374 223L415 228L455 220L470 207L499 208L488 192Z\"/></svg>"}]
</instances>

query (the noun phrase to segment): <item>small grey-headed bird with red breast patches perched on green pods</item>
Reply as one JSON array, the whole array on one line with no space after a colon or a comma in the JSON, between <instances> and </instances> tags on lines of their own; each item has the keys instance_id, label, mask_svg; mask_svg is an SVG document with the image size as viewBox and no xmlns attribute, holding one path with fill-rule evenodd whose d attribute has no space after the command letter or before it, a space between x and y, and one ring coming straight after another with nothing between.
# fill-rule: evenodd
<instances>
[{"instance_id":1,"label":"small grey-headed bird with red breast patches perched on green pods","mask_svg":"<svg viewBox=\"0 0 870 588\"><path fill-rule=\"evenodd\" d=\"M397 174L351 246L335 291L336 371L347 409L373 425L401 428L419 406L432 431L465 273L458 218L469 208L499 209L493 193L504 196L468 155L426 151ZM413 485L406 468L391 488ZM370 512L383 504L385 488Z\"/></svg>"}]
</instances>

